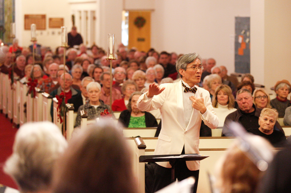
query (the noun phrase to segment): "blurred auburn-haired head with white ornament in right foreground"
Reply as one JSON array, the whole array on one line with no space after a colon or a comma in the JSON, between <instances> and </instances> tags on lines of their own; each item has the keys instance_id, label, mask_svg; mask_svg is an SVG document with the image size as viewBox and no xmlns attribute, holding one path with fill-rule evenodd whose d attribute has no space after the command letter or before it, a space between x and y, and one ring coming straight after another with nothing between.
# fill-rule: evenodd
<instances>
[{"instance_id":1,"label":"blurred auburn-haired head with white ornament in right foreground","mask_svg":"<svg viewBox=\"0 0 291 193\"><path fill-rule=\"evenodd\" d=\"M250 135L247 139L256 154L249 154L249 151L240 148L243 147L241 141L236 140L216 165L215 192L255 193L264 174L263 169L260 168L261 171L258 168L258 161L270 163L273 159L273 147L260 136Z\"/></svg>"}]
</instances>

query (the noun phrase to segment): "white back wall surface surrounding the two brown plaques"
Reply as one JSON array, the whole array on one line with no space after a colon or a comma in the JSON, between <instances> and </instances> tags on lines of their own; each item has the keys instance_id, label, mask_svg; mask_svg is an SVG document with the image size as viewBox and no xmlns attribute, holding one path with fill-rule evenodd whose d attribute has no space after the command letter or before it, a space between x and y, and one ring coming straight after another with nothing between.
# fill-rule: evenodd
<instances>
[{"instance_id":1,"label":"white back wall surface surrounding the two brown plaques","mask_svg":"<svg viewBox=\"0 0 291 193\"><path fill-rule=\"evenodd\" d=\"M66 0L16 0L16 38L19 39L19 45L31 45L31 32L24 30L24 15L40 14L46 15L46 30L37 30L37 42L41 45L48 45L52 49L61 45L61 29L50 29L49 18L64 18L64 26L71 23L70 10ZM68 29L69 31L70 29ZM53 34L54 32L54 34Z\"/></svg>"}]
</instances>

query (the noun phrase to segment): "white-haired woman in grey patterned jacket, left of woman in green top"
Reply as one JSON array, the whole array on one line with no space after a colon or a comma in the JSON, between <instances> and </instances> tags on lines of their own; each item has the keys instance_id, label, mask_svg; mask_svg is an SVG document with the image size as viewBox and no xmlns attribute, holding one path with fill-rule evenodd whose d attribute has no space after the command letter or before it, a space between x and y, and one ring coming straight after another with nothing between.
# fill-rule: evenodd
<instances>
[{"instance_id":1,"label":"white-haired woman in grey patterned jacket, left of woman in green top","mask_svg":"<svg viewBox=\"0 0 291 193\"><path fill-rule=\"evenodd\" d=\"M109 111L110 107L107 104L104 104L100 100L101 95L101 86L97 82L90 82L86 87L89 103L83 104L79 107L75 127L81 125L81 110L84 110L88 119L94 119L100 117L100 113L104 112L106 109ZM114 115L113 115L114 116Z\"/></svg>"}]
</instances>

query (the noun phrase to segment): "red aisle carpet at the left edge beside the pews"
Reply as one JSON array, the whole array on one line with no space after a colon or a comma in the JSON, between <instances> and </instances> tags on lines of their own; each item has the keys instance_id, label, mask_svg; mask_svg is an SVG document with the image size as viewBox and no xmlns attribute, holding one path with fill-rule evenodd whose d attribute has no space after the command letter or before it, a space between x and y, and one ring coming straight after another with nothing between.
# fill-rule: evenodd
<instances>
[{"instance_id":1,"label":"red aisle carpet at the left edge beside the pews","mask_svg":"<svg viewBox=\"0 0 291 193\"><path fill-rule=\"evenodd\" d=\"M12 178L4 174L3 165L6 159L12 154L12 146L17 132L12 127L9 119L0 113L0 184L17 189L16 183Z\"/></svg>"}]
</instances>

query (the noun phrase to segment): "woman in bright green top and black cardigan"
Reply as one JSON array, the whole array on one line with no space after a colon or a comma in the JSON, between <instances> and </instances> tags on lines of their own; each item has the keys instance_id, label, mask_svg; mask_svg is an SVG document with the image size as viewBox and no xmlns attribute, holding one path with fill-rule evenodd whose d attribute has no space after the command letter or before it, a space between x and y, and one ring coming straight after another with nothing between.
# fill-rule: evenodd
<instances>
[{"instance_id":1,"label":"woman in bright green top and black cardigan","mask_svg":"<svg viewBox=\"0 0 291 193\"><path fill-rule=\"evenodd\" d=\"M120 113L118 122L122 123L124 127L145 128L158 126L158 122L152 114L142 112L137 108L136 103L141 95L141 92L133 92L129 97L128 109Z\"/></svg>"}]
</instances>

